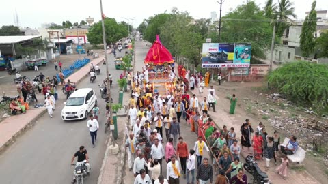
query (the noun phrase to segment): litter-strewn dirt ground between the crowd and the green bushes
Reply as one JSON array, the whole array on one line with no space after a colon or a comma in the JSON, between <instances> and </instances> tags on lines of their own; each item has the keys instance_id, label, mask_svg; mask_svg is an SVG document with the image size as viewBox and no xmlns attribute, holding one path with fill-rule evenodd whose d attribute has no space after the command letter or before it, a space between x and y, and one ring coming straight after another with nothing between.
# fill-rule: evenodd
<instances>
[{"instance_id":1,"label":"litter-strewn dirt ground between the crowd and the green bushes","mask_svg":"<svg viewBox=\"0 0 328 184\"><path fill-rule=\"evenodd\" d=\"M291 134L297 136L300 146L307 151L305 169L320 183L327 182L328 174L328 120L316 117L311 110L302 108L284 99L275 91L269 91L262 82L223 82L215 86L216 95L220 99L219 106L228 112L230 102L227 95L236 94L238 98L236 115L250 119L251 125L256 127L262 122L269 135L277 130L284 141L284 137ZM236 127L235 127L236 128ZM318 152L312 151L314 139L322 147Z\"/></svg>"}]
</instances>

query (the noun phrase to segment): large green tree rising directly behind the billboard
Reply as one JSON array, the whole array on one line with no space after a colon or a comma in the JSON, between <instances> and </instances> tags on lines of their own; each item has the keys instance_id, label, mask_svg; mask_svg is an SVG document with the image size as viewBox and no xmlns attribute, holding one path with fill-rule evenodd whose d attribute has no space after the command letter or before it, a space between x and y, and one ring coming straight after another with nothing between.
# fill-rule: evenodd
<instances>
[{"instance_id":1,"label":"large green tree rising directly behind the billboard","mask_svg":"<svg viewBox=\"0 0 328 184\"><path fill-rule=\"evenodd\" d=\"M273 29L264 11L254 1L236 7L236 10L222 18L222 25L221 42L251 42L251 62L266 59Z\"/></svg>"}]
</instances>

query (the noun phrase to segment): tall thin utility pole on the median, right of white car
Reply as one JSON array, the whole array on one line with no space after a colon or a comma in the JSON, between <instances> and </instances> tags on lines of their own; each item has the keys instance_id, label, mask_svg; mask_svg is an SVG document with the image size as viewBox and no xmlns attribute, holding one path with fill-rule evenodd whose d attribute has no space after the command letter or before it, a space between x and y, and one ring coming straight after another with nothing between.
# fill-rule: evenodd
<instances>
[{"instance_id":1,"label":"tall thin utility pole on the median, right of white car","mask_svg":"<svg viewBox=\"0 0 328 184\"><path fill-rule=\"evenodd\" d=\"M104 44L104 51L105 51L105 61L106 61L106 78L107 78L107 97L109 101L109 114L110 114L110 120L111 124L113 124L113 109L112 104L111 104L111 89L110 89L110 83L109 83L109 71L108 71L108 55L107 55L107 44L106 44L106 35L105 35L105 18L103 18L103 13L102 13L102 0L100 0L100 11L101 11L101 25L102 25L102 41ZM114 135L113 135L113 130L111 131L111 136L113 137L113 142L112 145L114 145Z\"/></svg>"}]
</instances>

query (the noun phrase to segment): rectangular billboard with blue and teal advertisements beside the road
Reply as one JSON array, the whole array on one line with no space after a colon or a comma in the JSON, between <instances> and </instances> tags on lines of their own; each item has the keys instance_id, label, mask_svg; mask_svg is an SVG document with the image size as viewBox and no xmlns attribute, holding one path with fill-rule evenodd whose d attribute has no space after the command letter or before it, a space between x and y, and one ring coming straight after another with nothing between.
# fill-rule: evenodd
<instances>
[{"instance_id":1,"label":"rectangular billboard with blue and teal advertisements beside the road","mask_svg":"<svg viewBox=\"0 0 328 184\"><path fill-rule=\"evenodd\" d=\"M251 44L203 43L202 67L249 67Z\"/></svg>"}]
</instances>

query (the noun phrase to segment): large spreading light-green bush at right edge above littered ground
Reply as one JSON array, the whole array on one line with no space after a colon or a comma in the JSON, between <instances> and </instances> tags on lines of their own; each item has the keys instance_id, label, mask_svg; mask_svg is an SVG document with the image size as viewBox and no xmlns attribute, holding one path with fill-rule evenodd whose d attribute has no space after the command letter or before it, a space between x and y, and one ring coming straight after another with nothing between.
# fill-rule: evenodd
<instances>
[{"instance_id":1,"label":"large spreading light-green bush at right edge above littered ground","mask_svg":"<svg viewBox=\"0 0 328 184\"><path fill-rule=\"evenodd\" d=\"M269 74L269 84L292 101L312 106L317 111L327 106L328 66L294 61Z\"/></svg>"}]
</instances>

